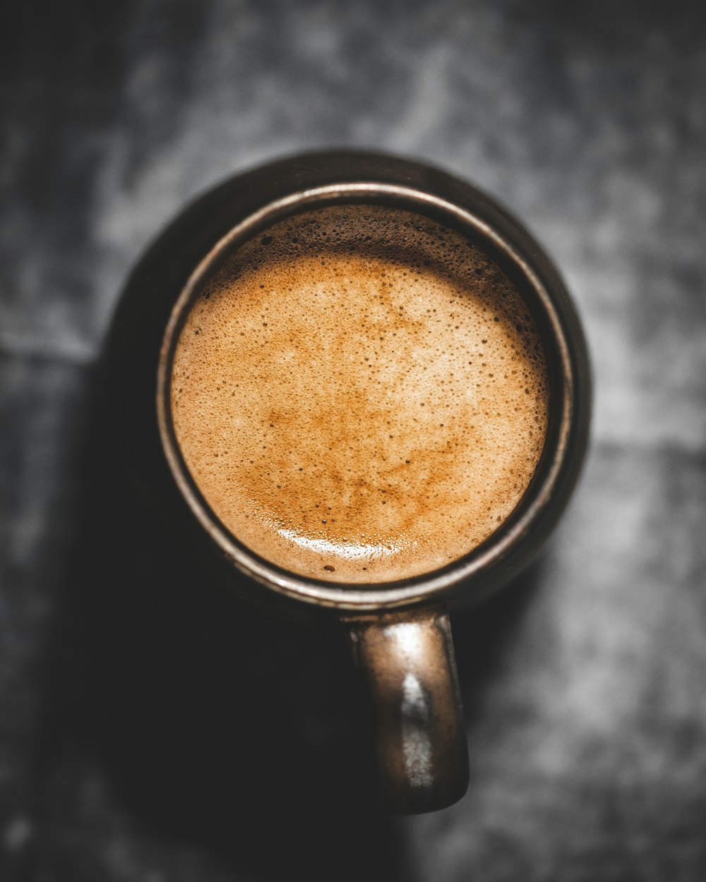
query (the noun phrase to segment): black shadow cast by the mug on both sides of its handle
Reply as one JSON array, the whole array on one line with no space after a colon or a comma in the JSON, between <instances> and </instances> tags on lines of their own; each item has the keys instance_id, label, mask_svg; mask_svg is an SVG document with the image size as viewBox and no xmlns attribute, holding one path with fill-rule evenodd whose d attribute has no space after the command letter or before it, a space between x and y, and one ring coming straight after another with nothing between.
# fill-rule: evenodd
<instances>
[{"instance_id":1,"label":"black shadow cast by the mug on both sides of its handle","mask_svg":"<svg viewBox=\"0 0 706 882\"><path fill-rule=\"evenodd\" d=\"M404 823L378 805L340 628L224 606L180 549L153 541L101 459L98 422L50 664L55 743L99 766L138 828L233 871L415 878ZM536 576L454 618L471 725Z\"/></svg>"}]
</instances>

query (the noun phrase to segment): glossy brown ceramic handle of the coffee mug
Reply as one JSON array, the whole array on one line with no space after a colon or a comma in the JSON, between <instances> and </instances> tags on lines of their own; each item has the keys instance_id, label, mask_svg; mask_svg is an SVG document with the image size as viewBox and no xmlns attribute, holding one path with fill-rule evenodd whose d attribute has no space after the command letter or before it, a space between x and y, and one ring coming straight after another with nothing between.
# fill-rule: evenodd
<instances>
[{"instance_id":1,"label":"glossy brown ceramic handle of the coffee mug","mask_svg":"<svg viewBox=\"0 0 706 882\"><path fill-rule=\"evenodd\" d=\"M345 617L372 696L382 796L397 814L435 811L469 784L461 691L446 607Z\"/></svg>"}]
</instances>

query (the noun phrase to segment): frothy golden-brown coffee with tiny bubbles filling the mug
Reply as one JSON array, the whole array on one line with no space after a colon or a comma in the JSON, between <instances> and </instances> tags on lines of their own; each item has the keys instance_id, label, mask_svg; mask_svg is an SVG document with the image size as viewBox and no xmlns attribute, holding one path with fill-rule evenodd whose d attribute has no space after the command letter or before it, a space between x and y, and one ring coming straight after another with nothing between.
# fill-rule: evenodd
<instances>
[{"instance_id":1,"label":"frothy golden-brown coffee with tiny bubbles filling the mug","mask_svg":"<svg viewBox=\"0 0 706 882\"><path fill-rule=\"evenodd\" d=\"M489 256L415 213L341 205L235 250L179 337L171 407L202 496L314 579L431 572L527 489L545 355Z\"/></svg>"}]
</instances>

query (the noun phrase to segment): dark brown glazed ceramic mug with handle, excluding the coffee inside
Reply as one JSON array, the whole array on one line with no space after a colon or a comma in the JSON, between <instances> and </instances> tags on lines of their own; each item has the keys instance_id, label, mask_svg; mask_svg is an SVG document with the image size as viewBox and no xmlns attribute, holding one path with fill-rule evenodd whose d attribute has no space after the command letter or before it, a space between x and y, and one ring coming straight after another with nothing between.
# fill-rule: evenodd
<instances>
[{"instance_id":1,"label":"dark brown glazed ceramic mug with handle, excluding the coffee inside","mask_svg":"<svg viewBox=\"0 0 706 882\"><path fill-rule=\"evenodd\" d=\"M510 517L443 569L370 586L285 572L230 534L184 465L169 406L178 333L224 255L273 221L341 202L417 213L492 255L537 324L550 385L544 452ZM147 250L118 305L106 367L109 437L154 522L185 544L207 578L237 586L239 595L340 618L372 695L387 806L432 811L459 799L468 754L448 610L459 599L481 600L528 563L567 503L587 444L586 344L543 250L492 199L436 168L377 153L277 161L199 198Z\"/></svg>"}]
</instances>

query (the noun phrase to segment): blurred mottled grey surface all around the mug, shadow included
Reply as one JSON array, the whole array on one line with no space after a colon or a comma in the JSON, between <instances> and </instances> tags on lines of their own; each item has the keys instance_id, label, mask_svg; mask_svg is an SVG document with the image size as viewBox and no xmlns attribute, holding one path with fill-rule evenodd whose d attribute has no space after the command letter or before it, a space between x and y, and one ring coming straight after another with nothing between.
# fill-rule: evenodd
<instances>
[{"instance_id":1,"label":"blurred mottled grey surface all around the mug, shadow included","mask_svg":"<svg viewBox=\"0 0 706 882\"><path fill-rule=\"evenodd\" d=\"M0 33L0 875L706 878L702 5L7 4ZM454 620L471 784L375 808L334 633L222 615L113 503L96 364L191 198L305 149L510 208L581 312L582 482Z\"/></svg>"}]
</instances>

